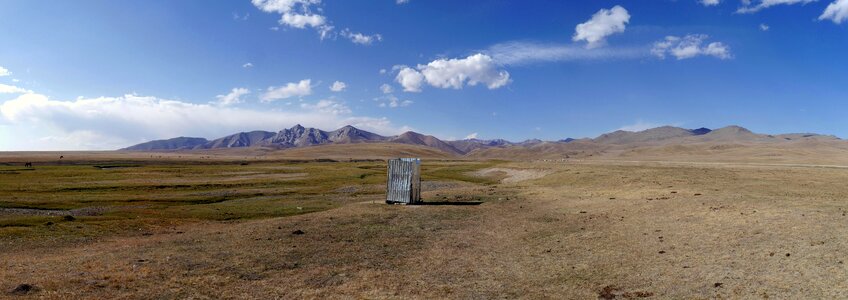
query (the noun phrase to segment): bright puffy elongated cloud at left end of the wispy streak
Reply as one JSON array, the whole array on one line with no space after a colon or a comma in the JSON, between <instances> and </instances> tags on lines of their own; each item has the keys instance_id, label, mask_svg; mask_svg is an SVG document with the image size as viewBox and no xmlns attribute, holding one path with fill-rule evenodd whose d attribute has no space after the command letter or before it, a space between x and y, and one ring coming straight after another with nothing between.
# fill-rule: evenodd
<instances>
[{"instance_id":1,"label":"bright puffy elongated cloud at left end of the wispy streak","mask_svg":"<svg viewBox=\"0 0 848 300\"><path fill-rule=\"evenodd\" d=\"M489 89L500 88L510 82L509 72L499 70L492 57L477 53L466 58L437 59L416 69L402 67L395 80L407 92L420 92L421 85L437 88L461 89L466 84L484 84Z\"/></svg>"}]
</instances>

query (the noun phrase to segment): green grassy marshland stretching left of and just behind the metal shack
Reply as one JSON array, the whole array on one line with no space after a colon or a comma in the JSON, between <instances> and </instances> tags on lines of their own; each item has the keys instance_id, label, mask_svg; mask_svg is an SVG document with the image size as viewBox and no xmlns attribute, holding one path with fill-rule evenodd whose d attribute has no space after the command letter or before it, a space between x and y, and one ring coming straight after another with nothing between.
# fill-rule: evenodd
<instances>
[{"instance_id":1,"label":"green grassy marshland stretching left of and just behind the metal shack","mask_svg":"<svg viewBox=\"0 0 848 300\"><path fill-rule=\"evenodd\" d=\"M485 163L431 163L429 181ZM283 217L384 200L385 163L156 162L0 166L0 241L90 240L191 222ZM21 242L24 241L24 242Z\"/></svg>"}]
</instances>

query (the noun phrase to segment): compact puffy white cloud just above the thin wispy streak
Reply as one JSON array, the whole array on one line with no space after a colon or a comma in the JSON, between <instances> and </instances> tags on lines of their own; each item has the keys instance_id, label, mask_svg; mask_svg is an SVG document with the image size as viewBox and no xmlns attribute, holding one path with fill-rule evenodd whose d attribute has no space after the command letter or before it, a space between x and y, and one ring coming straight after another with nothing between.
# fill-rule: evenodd
<instances>
[{"instance_id":1,"label":"compact puffy white cloud just above the thin wispy streak","mask_svg":"<svg viewBox=\"0 0 848 300\"><path fill-rule=\"evenodd\" d=\"M571 39L586 41L586 47L596 48L604 44L607 36L624 32L628 22L630 14L624 7L616 5L611 9L601 9L589 21L578 24Z\"/></svg>"}]
</instances>

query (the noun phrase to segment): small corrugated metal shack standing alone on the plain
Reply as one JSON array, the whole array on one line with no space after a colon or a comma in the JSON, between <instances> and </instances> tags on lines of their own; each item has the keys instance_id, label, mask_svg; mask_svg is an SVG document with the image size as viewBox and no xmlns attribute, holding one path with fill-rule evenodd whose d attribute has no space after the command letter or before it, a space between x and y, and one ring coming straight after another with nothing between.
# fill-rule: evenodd
<instances>
[{"instance_id":1,"label":"small corrugated metal shack standing alone on the plain","mask_svg":"<svg viewBox=\"0 0 848 300\"><path fill-rule=\"evenodd\" d=\"M386 203L415 204L419 202L421 202L421 159L390 159Z\"/></svg>"}]
</instances>

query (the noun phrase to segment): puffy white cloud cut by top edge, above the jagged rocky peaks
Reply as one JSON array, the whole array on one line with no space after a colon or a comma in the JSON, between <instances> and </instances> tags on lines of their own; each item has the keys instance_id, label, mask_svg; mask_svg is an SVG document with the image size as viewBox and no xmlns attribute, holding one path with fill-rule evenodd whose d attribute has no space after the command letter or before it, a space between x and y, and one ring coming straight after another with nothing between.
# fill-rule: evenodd
<instances>
[{"instance_id":1,"label":"puffy white cloud cut by top edge, above the jagged rocky peaks","mask_svg":"<svg viewBox=\"0 0 848 300\"><path fill-rule=\"evenodd\" d=\"M313 12L321 0L251 0L251 3L261 11L280 14L280 25L314 28L321 39L327 38L333 30L326 17Z\"/></svg>"}]
</instances>

